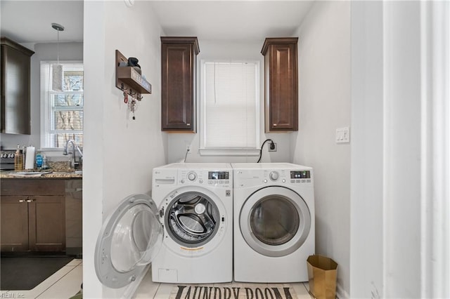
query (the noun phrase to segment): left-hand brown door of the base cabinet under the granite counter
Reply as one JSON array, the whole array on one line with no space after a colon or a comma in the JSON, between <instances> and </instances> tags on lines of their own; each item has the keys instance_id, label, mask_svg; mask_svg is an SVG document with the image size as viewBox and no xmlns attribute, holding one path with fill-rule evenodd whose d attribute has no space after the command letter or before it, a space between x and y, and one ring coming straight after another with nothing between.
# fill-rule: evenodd
<instances>
[{"instance_id":1,"label":"left-hand brown door of the base cabinet under the granite counter","mask_svg":"<svg viewBox=\"0 0 450 299\"><path fill-rule=\"evenodd\" d=\"M1 196L0 236L1 251L28 250L28 205L27 197Z\"/></svg>"}]
</instances>

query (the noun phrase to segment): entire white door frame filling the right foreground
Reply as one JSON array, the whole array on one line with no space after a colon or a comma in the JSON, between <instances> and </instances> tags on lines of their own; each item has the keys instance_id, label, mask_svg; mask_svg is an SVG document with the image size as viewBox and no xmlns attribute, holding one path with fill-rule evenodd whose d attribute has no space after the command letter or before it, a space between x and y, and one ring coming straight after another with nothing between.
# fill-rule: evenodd
<instances>
[{"instance_id":1,"label":"entire white door frame filling the right foreground","mask_svg":"<svg viewBox=\"0 0 450 299\"><path fill-rule=\"evenodd\" d=\"M448 298L449 7L352 4L354 298Z\"/></svg>"}]
</instances>

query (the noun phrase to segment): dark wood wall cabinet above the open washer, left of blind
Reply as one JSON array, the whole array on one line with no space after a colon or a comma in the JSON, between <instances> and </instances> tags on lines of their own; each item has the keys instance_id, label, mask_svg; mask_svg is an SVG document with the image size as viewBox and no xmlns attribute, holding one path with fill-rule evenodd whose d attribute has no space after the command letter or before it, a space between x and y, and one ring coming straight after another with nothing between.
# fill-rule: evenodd
<instances>
[{"instance_id":1,"label":"dark wood wall cabinet above the open washer, left of blind","mask_svg":"<svg viewBox=\"0 0 450 299\"><path fill-rule=\"evenodd\" d=\"M162 131L196 131L196 37L161 36Z\"/></svg>"}]
</instances>

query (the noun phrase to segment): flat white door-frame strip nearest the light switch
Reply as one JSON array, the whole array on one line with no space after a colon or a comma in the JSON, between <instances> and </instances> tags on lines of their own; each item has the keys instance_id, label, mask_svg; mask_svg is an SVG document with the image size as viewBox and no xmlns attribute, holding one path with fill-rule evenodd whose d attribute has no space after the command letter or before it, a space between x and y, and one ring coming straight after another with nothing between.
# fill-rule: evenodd
<instances>
[{"instance_id":1,"label":"flat white door-frame strip nearest the light switch","mask_svg":"<svg viewBox=\"0 0 450 299\"><path fill-rule=\"evenodd\" d=\"M383 298L383 3L352 2L350 295Z\"/></svg>"}]
</instances>

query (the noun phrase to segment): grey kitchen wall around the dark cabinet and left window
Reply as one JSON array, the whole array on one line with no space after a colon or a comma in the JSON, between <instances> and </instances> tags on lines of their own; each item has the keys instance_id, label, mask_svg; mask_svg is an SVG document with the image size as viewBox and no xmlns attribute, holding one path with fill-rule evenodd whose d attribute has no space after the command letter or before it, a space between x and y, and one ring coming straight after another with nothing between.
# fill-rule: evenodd
<instances>
[{"instance_id":1,"label":"grey kitchen wall around the dark cabinet and left window","mask_svg":"<svg viewBox=\"0 0 450 299\"><path fill-rule=\"evenodd\" d=\"M57 44L24 45L34 51L31 57L30 68L30 108L31 108L31 134L0 134L1 145L6 150L13 150L17 145L41 146L41 60L56 60L58 56ZM83 43L60 43L60 60L83 60Z\"/></svg>"}]
</instances>

